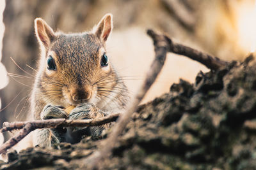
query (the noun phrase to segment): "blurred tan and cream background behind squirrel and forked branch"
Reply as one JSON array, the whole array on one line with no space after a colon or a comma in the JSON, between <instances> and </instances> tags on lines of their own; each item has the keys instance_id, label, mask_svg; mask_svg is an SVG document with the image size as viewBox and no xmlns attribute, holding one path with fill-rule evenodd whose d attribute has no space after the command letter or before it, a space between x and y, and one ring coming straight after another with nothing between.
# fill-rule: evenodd
<instances>
[{"instance_id":1,"label":"blurred tan and cream background behind squirrel and forked branch","mask_svg":"<svg viewBox=\"0 0 256 170\"><path fill-rule=\"evenodd\" d=\"M24 120L29 111L35 75L32 68L36 69L40 56L35 18L44 18L55 31L82 32L92 29L106 13L113 14L114 22L107 43L108 56L118 73L129 76L125 83L131 94L136 94L154 58L148 28L225 60L243 60L255 49L254 0L2 0L0 127L5 121ZM6 76L4 66L12 77ZM198 62L168 54L161 75L143 103L168 92L179 78L193 82L200 70L208 71Z\"/></svg>"}]
</instances>

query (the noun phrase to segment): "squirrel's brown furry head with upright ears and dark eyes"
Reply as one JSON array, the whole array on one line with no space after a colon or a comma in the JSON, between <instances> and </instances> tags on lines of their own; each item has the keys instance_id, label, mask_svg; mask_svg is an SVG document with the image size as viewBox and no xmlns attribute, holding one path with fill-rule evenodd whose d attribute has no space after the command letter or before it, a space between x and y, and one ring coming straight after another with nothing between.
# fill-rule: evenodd
<instances>
[{"instance_id":1,"label":"squirrel's brown furry head with upright ears and dark eyes","mask_svg":"<svg viewBox=\"0 0 256 170\"><path fill-rule=\"evenodd\" d=\"M79 34L54 32L42 18L35 19L42 50L38 87L47 102L76 105L108 97L118 79L106 52L112 28L111 14L93 31Z\"/></svg>"}]
</instances>

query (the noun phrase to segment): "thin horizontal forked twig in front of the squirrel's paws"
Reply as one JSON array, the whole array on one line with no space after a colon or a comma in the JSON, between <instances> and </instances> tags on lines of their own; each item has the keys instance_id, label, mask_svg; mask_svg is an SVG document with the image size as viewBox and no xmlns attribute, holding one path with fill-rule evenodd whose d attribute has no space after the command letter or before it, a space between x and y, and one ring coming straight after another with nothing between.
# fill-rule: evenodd
<instances>
[{"instance_id":1,"label":"thin horizontal forked twig in front of the squirrel's paws","mask_svg":"<svg viewBox=\"0 0 256 170\"><path fill-rule=\"evenodd\" d=\"M65 118L56 118L49 120L34 120L26 122L12 122L4 123L4 127L0 129L0 132L12 131L13 129L22 129L18 134L13 136L11 139L6 141L0 146L0 154L6 152L9 148L16 145L21 139L29 134L29 132L35 129L42 128L56 128L56 127L88 127L108 124L114 122L118 117L119 113L111 114L107 117L100 117L95 119L81 119L81 120L68 120Z\"/></svg>"}]
</instances>

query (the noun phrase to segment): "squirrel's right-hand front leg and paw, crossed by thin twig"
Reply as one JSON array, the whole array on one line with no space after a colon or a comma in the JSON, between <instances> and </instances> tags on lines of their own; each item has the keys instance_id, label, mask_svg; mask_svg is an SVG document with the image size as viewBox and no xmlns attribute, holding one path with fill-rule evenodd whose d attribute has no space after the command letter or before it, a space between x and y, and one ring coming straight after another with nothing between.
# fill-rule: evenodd
<instances>
[{"instance_id":1,"label":"squirrel's right-hand front leg and paw, crossed by thin twig","mask_svg":"<svg viewBox=\"0 0 256 170\"><path fill-rule=\"evenodd\" d=\"M108 113L104 113L101 111L95 104L92 103L82 103L76 106L74 110L70 112L69 119L94 119L98 117L106 117ZM102 131L104 129L110 127L111 123L105 124L105 125L100 125L97 127L86 127L86 128L72 128L72 132L79 131L81 129L87 129L88 132L92 136L100 136L102 134Z\"/></svg>"}]
</instances>

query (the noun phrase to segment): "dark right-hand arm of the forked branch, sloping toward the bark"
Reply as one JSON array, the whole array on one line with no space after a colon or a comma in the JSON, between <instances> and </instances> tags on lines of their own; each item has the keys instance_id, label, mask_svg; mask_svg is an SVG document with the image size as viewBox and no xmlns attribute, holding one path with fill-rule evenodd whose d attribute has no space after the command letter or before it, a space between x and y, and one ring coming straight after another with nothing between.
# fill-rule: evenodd
<instances>
[{"instance_id":1,"label":"dark right-hand arm of the forked branch, sloping toward the bark","mask_svg":"<svg viewBox=\"0 0 256 170\"><path fill-rule=\"evenodd\" d=\"M169 52L189 57L192 60L196 60L201 64L204 64L204 66L208 67L209 69L218 70L230 63L225 60L221 60L218 57L213 57L207 53L195 50L189 46L173 43L172 39L168 38L167 36L166 39L168 39L169 42Z\"/></svg>"}]
</instances>

